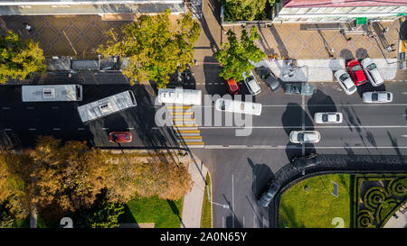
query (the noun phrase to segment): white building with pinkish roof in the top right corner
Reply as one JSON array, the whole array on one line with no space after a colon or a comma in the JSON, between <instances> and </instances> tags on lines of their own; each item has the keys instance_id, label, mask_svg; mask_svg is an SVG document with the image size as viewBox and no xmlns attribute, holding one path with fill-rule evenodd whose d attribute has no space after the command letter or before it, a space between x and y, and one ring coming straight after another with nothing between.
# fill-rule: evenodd
<instances>
[{"instance_id":1,"label":"white building with pinkish roof in the top right corner","mask_svg":"<svg viewBox=\"0 0 407 246\"><path fill-rule=\"evenodd\" d=\"M278 1L276 1L278 2ZM406 0L280 0L273 23L393 21L407 13Z\"/></svg>"}]
</instances>

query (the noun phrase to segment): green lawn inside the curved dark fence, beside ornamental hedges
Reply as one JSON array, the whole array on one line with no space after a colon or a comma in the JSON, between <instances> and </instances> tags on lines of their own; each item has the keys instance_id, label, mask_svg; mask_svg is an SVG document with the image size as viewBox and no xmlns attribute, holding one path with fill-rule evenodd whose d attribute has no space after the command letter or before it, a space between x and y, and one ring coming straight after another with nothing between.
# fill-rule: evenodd
<instances>
[{"instance_id":1,"label":"green lawn inside the curved dark fence, beside ornamental hedges","mask_svg":"<svg viewBox=\"0 0 407 246\"><path fill-rule=\"evenodd\" d=\"M333 196L334 181L338 184L338 197ZM308 187L308 191L305 190ZM279 227L333 228L336 217L350 227L351 193L350 175L324 175L302 180L280 197ZM334 223L334 224L333 224Z\"/></svg>"}]
</instances>

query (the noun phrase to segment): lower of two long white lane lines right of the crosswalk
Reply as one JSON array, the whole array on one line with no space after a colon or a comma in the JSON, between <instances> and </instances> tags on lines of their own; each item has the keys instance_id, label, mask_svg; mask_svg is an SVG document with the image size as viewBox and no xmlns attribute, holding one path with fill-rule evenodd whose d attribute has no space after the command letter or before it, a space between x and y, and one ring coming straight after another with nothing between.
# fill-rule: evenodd
<instances>
[{"instance_id":1,"label":"lower of two long white lane lines right of the crosswalk","mask_svg":"<svg viewBox=\"0 0 407 246\"><path fill-rule=\"evenodd\" d=\"M305 149L394 149L393 146L305 146ZM257 150L257 149L268 149L268 150L281 150L281 149L302 149L302 146L271 146L271 145L208 145L205 144L204 149L213 150L213 149L248 149L248 150ZM398 146L397 149L407 149L407 146Z\"/></svg>"}]
</instances>

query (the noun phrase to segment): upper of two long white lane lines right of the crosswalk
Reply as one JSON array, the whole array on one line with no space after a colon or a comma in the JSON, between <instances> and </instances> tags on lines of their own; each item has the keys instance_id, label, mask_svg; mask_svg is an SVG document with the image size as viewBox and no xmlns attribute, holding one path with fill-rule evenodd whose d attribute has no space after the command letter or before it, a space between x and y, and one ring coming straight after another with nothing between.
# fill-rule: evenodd
<instances>
[{"instance_id":1,"label":"upper of two long white lane lines right of the crosswalk","mask_svg":"<svg viewBox=\"0 0 407 246\"><path fill-rule=\"evenodd\" d=\"M158 127L156 127L158 128ZM261 126L199 126L199 129L241 129L241 128L251 128L251 129L287 129L287 128L301 128L301 125L261 125ZM315 129L345 129L345 128L407 128L407 125L315 125Z\"/></svg>"}]
</instances>

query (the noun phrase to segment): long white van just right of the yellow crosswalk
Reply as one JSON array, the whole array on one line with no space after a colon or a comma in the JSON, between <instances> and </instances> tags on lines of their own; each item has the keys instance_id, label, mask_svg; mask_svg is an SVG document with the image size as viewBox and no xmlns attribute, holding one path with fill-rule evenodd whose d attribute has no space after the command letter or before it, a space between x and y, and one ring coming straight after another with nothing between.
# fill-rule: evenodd
<instances>
[{"instance_id":1,"label":"long white van just right of the yellow crosswalk","mask_svg":"<svg viewBox=\"0 0 407 246\"><path fill-rule=\"evenodd\" d=\"M215 109L218 111L239 113L239 114L261 114L261 104L252 102L241 102L231 99L217 99L215 101Z\"/></svg>"}]
</instances>

